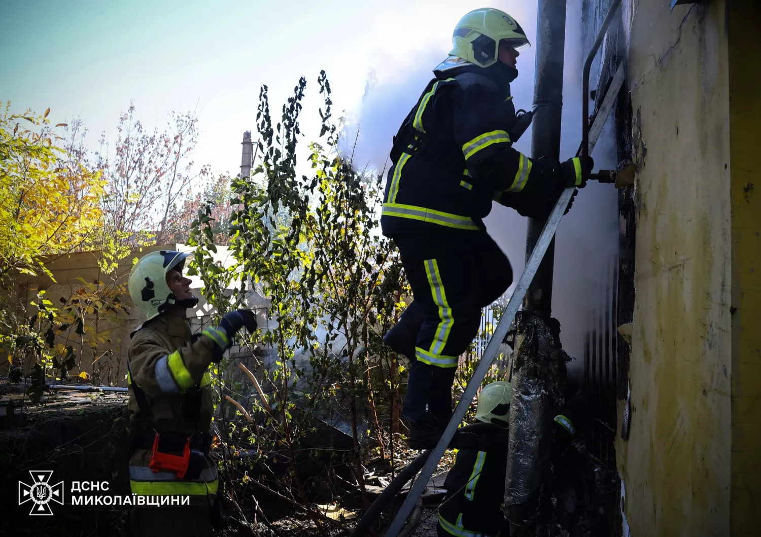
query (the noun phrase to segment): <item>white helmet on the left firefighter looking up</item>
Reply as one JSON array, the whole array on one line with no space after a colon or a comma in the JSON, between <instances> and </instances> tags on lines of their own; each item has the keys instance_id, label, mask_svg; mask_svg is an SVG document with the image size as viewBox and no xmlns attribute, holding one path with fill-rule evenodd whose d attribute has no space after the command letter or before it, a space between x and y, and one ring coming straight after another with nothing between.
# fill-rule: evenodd
<instances>
[{"instance_id":1,"label":"white helmet on the left firefighter looking up","mask_svg":"<svg viewBox=\"0 0 761 537\"><path fill-rule=\"evenodd\" d=\"M173 268L183 272L185 260L190 256L193 254L160 250L142 256L132 267L132 272L129 273L129 296L135 306L145 313L146 321L176 302L177 297L167 285L167 272Z\"/></svg>"}]
</instances>

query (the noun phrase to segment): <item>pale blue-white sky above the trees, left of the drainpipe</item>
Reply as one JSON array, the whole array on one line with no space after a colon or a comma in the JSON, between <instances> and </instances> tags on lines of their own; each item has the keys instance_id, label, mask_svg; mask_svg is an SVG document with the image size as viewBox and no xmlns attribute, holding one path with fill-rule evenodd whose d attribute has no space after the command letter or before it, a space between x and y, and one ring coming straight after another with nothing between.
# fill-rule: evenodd
<instances>
[{"instance_id":1,"label":"pale blue-white sky above the trees, left of the drainpipe","mask_svg":"<svg viewBox=\"0 0 761 537\"><path fill-rule=\"evenodd\" d=\"M525 7L531 3L494 7L533 21L535 6ZM171 110L196 110L196 162L237 173L243 132L256 129L262 84L275 114L298 78L307 78L302 125L314 137L320 69L330 79L335 116L361 116L374 79L377 91L397 92L395 113L384 118L396 122L446 56L454 24L478 7L469 0L8 0L0 17L0 99L14 110L49 106L54 122L80 116L93 143L100 132L115 138L131 100L144 126L163 124ZM531 52L529 63L533 70Z\"/></svg>"}]
</instances>

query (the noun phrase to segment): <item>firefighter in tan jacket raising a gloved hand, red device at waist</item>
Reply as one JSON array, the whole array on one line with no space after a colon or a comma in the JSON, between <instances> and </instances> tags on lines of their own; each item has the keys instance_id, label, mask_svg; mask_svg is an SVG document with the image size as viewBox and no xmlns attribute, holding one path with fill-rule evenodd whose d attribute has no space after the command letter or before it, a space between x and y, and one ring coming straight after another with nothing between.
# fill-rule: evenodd
<instances>
[{"instance_id":1,"label":"firefighter in tan jacket raising a gloved hand, red device at waist","mask_svg":"<svg viewBox=\"0 0 761 537\"><path fill-rule=\"evenodd\" d=\"M128 351L129 414L133 423L129 485L161 507L133 507L132 535L212 535L219 501L216 463L209 458L212 392L209 365L218 362L244 326L256 329L250 310L222 317L219 326L190 332L187 308L198 298L183 277L191 254L165 251L142 257L129 275L129 295L145 323L132 332ZM189 497L177 507L170 497ZM169 506L169 507L167 507Z\"/></svg>"}]
</instances>

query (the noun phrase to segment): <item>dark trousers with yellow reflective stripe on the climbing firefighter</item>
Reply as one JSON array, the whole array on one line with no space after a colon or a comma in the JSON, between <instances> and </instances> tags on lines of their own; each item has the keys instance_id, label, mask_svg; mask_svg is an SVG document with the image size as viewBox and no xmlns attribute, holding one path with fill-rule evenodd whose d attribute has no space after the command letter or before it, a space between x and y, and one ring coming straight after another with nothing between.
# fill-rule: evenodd
<instances>
[{"instance_id":1,"label":"dark trousers with yellow reflective stripe on the climbing firefighter","mask_svg":"<svg viewBox=\"0 0 761 537\"><path fill-rule=\"evenodd\" d=\"M413 422L446 424L457 358L478 332L481 308L510 286L512 268L486 231L457 238L409 234L393 240L413 297L400 324L409 324L404 332L417 334L403 415Z\"/></svg>"}]
</instances>

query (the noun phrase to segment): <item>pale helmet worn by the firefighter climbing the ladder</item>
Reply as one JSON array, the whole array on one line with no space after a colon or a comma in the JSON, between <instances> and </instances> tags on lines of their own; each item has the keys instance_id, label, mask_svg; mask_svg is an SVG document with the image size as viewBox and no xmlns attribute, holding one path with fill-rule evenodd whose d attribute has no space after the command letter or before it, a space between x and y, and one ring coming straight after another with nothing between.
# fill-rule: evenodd
<instances>
[{"instance_id":1,"label":"pale helmet worn by the firefighter climbing the ladder","mask_svg":"<svg viewBox=\"0 0 761 537\"><path fill-rule=\"evenodd\" d=\"M454 27L449 54L479 67L489 67L497 62L501 41L516 50L531 46L521 25L505 11L475 9L466 13Z\"/></svg>"}]
</instances>

